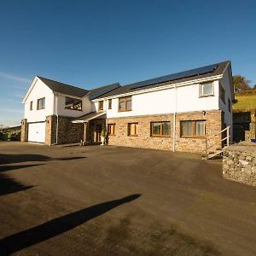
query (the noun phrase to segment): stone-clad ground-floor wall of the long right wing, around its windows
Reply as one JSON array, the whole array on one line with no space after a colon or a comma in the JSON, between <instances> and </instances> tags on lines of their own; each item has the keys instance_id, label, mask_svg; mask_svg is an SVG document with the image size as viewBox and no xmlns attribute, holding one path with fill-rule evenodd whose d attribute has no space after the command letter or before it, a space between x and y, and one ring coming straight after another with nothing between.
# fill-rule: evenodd
<instances>
[{"instance_id":1,"label":"stone-clad ground-floor wall of the long right wing, around its windows","mask_svg":"<svg viewBox=\"0 0 256 256\"><path fill-rule=\"evenodd\" d=\"M222 128L221 111L178 113L176 116L176 151L189 151L195 153L206 152L206 137L180 137L181 120L206 120L206 133L210 138L213 148L219 148L221 137L214 137ZM170 137L150 137L150 122L170 121ZM128 136L128 124L137 123L137 137ZM107 119L107 124L115 124L115 135L109 136L108 143L116 146L127 146L136 148L154 148L172 150L173 147L173 114L145 115L137 117L125 117L118 119Z\"/></svg>"}]
</instances>

